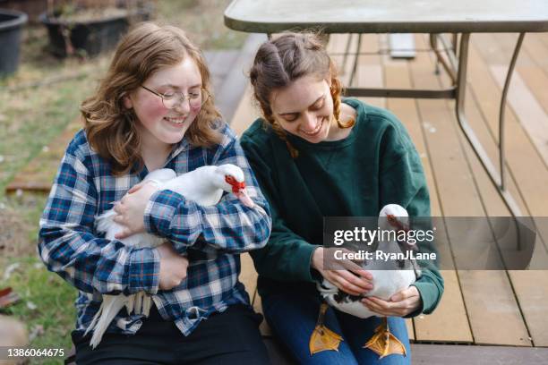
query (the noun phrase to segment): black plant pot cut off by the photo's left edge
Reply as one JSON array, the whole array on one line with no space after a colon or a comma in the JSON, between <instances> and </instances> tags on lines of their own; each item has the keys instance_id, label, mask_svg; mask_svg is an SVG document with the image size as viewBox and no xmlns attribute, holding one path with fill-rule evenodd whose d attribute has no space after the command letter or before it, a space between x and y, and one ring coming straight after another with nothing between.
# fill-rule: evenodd
<instances>
[{"instance_id":1,"label":"black plant pot cut off by the photo's left edge","mask_svg":"<svg viewBox=\"0 0 548 365\"><path fill-rule=\"evenodd\" d=\"M27 20L25 13L0 9L0 76L17 71L21 30Z\"/></svg>"}]
</instances>

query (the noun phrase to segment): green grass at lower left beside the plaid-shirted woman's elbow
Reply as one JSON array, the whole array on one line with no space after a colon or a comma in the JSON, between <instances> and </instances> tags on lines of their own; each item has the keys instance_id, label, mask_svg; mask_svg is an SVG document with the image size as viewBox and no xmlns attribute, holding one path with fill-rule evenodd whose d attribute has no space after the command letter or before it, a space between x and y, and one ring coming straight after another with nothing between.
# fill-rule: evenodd
<instances>
[{"instance_id":1,"label":"green grass at lower left beside the plaid-shirted woman's elbow","mask_svg":"<svg viewBox=\"0 0 548 365\"><path fill-rule=\"evenodd\" d=\"M20 295L21 301L4 313L21 320L29 333L37 334L30 342L31 347L63 348L67 352L72 347L70 333L76 318L73 301L77 291L61 277L47 271L36 253L39 216L45 202L43 194L24 193L19 197L4 197L4 208L0 214L17 215L17 226L13 231L21 229L22 232L11 240L17 247L0 259L0 288L10 286ZM4 230L6 228L9 230L8 227ZM7 280L3 280L4 269L13 264L19 267ZM32 308L32 304L36 305L36 309ZM30 360L30 364L42 363L58 364L61 358Z\"/></svg>"}]
</instances>

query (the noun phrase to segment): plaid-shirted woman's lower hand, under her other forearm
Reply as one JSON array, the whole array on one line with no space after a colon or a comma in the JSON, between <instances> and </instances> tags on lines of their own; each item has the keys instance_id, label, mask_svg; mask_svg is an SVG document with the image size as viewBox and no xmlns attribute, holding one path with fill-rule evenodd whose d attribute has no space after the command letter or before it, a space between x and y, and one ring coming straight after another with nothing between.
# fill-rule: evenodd
<instances>
[{"instance_id":1,"label":"plaid-shirted woman's lower hand, under her other forearm","mask_svg":"<svg viewBox=\"0 0 548 365\"><path fill-rule=\"evenodd\" d=\"M161 290L173 289L186 277L188 259L179 255L170 242L162 243L156 249L160 255L158 286Z\"/></svg>"}]
</instances>

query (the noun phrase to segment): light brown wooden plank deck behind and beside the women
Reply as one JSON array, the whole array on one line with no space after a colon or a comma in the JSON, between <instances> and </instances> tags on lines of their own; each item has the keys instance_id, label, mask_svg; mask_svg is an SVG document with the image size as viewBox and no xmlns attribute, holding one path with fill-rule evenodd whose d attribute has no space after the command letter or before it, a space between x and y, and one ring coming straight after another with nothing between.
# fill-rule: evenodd
<instances>
[{"instance_id":1,"label":"light brown wooden plank deck behind and beside the women","mask_svg":"<svg viewBox=\"0 0 548 365\"><path fill-rule=\"evenodd\" d=\"M357 41L356 36L332 35L328 45L339 68L344 69L343 81L347 81L351 60L344 66L341 64L343 58L338 54L344 52L348 37ZM385 49L387 39L386 35L364 36L362 49L367 52ZM469 123L493 160L497 158L495 143L501 85L515 39L516 36L506 34L473 35L470 45L467 114ZM416 35L415 45L419 49L426 48L427 38ZM447 86L449 79L443 73L434 73L434 61L432 54L423 52L418 52L414 60L360 55L355 83L390 88ZM548 216L547 86L548 34L528 34L509 90L506 127L509 187L527 216ZM389 108L405 123L423 158L433 216L509 216L508 209L458 130L453 101L364 100ZM231 125L241 133L256 115L258 111L252 106L248 87ZM548 256L547 242L545 232L536 242L535 255L544 262ZM242 262L241 280L252 297L254 308L261 311L253 262L247 254L243 255ZM445 293L438 309L432 315L407 320L409 335L417 344L415 347L418 344L475 344L512 346L511 350L548 346L548 271L443 270L442 275ZM261 330L263 335L270 335L266 324L262 324ZM450 356L450 352L447 353ZM515 356L518 352L511 353ZM548 362L546 352L542 353L544 363ZM520 356L516 359L526 361ZM512 362L513 358L506 359Z\"/></svg>"}]
</instances>

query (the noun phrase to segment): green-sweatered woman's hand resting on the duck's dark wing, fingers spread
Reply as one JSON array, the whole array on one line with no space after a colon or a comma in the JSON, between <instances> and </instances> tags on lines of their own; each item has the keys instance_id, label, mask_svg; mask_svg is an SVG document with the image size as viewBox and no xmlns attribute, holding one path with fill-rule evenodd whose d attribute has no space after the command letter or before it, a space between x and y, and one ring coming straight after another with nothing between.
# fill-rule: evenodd
<instances>
[{"instance_id":1,"label":"green-sweatered woman's hand resting on the duck's dark wing, fingers spread","mask_svg":"<svg viewBox=\"0 0 548 365\"><path fill-rule=\"evenodd\" d=\"M331 250L331 249L328 249ZM334 284L338 289L351 295L361 295L372 290L372 275L350 260L337 260L333 262L336 269L323 269L324 254L326 249L319 247L314 250L312 258L312 267L318 270L326 280ZM328 259L333 255L326 256ZM333 261L333 259L330 259Z\"/></svg>"}]
</instances>

